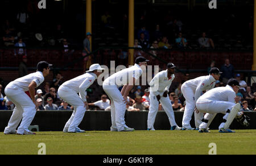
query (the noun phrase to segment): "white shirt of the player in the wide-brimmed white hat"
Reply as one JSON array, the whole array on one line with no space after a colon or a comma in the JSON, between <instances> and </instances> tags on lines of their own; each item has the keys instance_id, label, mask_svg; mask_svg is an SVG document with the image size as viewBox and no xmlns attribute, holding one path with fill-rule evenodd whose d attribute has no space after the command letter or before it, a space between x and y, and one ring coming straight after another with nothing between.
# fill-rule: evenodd
<instances>
[{"instance_id":1,"label":"white shirt of the player in the wide-brimmed white hat","mask_svg":"<svg viewBox=\"0 0 256 166\"><path fill-rule=\"evenodd\" d=\"M61 86L67 86L68 88L74 90L76 93L79 93L82 101L86 101L86 89L89 88L90 85L97 79L96 74L94 73L85 73L81 76L73 78L64 82Z\"/></svg>"}]
</instances>

